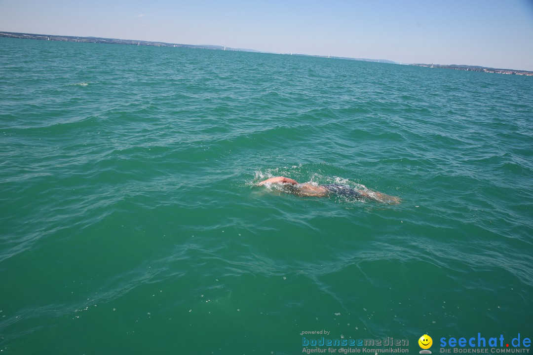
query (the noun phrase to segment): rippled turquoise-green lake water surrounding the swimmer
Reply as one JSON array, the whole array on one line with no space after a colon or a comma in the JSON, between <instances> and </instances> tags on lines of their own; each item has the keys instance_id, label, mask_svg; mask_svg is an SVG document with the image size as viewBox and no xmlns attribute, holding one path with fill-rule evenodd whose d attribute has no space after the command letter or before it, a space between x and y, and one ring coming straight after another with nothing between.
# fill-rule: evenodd
<instances>
[{"instance_id":1,"label":"rippled turquoise-green lake water surrounding the swimmer","mask_svg":"<svg viewBox=\"0 0 533 355\"><path fill-rule=\"evenodd\" d=\"M531 338L532 93L531 77L0 38L0 353ZM255 186L273 176L401 203Z\"/></svg>"}]
</instances>

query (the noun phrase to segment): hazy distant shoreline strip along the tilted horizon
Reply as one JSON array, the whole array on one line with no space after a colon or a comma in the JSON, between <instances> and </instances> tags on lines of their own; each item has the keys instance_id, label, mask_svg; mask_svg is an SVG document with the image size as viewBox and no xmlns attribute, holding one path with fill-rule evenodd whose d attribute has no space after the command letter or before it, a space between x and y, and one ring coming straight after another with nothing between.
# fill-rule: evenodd
<instances>
[{"instance_id":1,"label":"hazy distant shoreline strip along the tilted horizon","mask_svg":"<svg viewBox=\"0 0 533 355\"><path fill-rule=\"evenodd\" d=\"M311 56L320 58L332 58L332 59L345 59L356 60L364 62L378 62L387 64L398 64L397 62L385 60L385 59L366 59L366 58L351 58L351 57L339 57L339 56L326 56L326 55L312 55L312 54L296 54L296 53L273 53L273 52L261 52L255 49L245 48L230 48L225 46L216 45L192 45L192 44L180 44L180 43L165 43L165 42L152 42L146 40L133 40L133 39L117 39L117 38L102 38L102 37L78 37L78 36L57 36L57 35L39 35L39 34L27 34L22 32L5 32L0 31L0 37L5 38L21 38L21 39L38 39L38 40L57 40L61 42L81 42L81 43L103 43L103 44L127 44L136 46L152 46L152 47L181 47L181 48L197 48L197 49L215 49L219 51L237 51L237 52L253 52L253 53L269 53L269 54L286 54L286 55L299 55L299 56ZM510 75L522 75L533 76L533 71L527 70L515 70L515 69L495 69L480 67L478 65L456 65L456 64L410 64L416 67L427 68L442 68L442 69L455 69L465 71L479 71L486 73L498 73L498 74L510 74Z\"/></svg>"}]
</instances>

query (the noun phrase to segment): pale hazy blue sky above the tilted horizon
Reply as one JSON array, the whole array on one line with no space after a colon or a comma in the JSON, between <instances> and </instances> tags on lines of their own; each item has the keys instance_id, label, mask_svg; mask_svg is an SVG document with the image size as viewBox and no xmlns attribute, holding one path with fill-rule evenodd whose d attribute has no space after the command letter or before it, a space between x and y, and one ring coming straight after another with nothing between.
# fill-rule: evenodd
<instances>
[{"instance_id":1,"label":"pale hazy blue sky above the tilted horizon","mask_svg":"<svg viewBox=\"0 0 533 355\"><path fill-rule=\"evenodd\" d=\"M533 70L533 0L0 0L0 31Z\"/></svg>"}]
</instances>

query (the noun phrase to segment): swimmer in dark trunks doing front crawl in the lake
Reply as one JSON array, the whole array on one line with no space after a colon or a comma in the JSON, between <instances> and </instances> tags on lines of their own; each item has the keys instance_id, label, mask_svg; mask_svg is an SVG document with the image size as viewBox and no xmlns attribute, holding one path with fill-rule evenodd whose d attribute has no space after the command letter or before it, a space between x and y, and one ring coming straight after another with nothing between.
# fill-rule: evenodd
<instances>
[{"instance_id":1,"label":"swimmer in dark trunks doing front crawl in the lake","mask_svg":"<svg viewBox=\"0 0 533 355\"><path fill-rule=\"evenodd\" d=\"M377 191L362 191L342 184L312 185L309 183L300 184L298 181L283 176L273 177L261 181L257 186L264 184L283 184L287 187L288 192L299 196L326 197L331 194L354 197L358 200L374 200L378 202L387 202L390 204L400 203L398 197L385 195Z\"/></svg>"}]
</instances>

